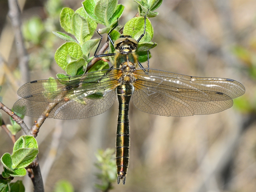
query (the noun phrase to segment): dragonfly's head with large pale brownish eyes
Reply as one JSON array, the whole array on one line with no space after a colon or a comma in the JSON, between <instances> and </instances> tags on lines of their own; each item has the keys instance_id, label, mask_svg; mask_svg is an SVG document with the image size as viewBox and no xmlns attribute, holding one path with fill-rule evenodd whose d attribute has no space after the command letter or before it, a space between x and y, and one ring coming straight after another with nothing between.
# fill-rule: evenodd
<instances>
[{"instance_id":1,"label":"dragonfly's head with large pale brownish eyes","mask_svg":"<svg viewBox=\"0 0 256 192\"><path fill-rule=\"evenodd\" d=\"M129 35L122 35L115 41L114 48L122 54L132 53L138 48L138 42Z\"/></svg>"}]
</instances>

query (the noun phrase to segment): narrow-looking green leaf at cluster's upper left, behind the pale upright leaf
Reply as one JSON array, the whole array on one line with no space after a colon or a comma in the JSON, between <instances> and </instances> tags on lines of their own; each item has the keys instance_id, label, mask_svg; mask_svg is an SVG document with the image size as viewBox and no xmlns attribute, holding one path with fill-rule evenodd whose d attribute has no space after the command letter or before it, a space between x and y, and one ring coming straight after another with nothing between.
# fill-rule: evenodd
<instances>
[{"instance_id":1,"label":"narrow-looking green leaf at cluster's upper left, behind the pale upright leaf","mask_svg":"<svg viewBox=\"0 0 256 192\"><path fill-rule=\"evenodd\" d=\"M71 21L74 13L75 12L68 7L63 8L60 12L60 26L70 34L73 34Z\"/></svg>"}]
</instances>

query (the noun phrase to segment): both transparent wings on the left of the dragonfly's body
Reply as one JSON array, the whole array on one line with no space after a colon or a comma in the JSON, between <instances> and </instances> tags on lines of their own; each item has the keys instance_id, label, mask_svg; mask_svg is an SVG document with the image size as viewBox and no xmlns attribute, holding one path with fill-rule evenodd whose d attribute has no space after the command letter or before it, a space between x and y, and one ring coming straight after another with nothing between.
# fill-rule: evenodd
<instances>
[{"instance_id":1,"label":"both transparent wings on the left of the dragonfly's body","mask_svg":"<svg viewBox=\"0 0 256 192\"><path fill-rule=\"evenodd\" d=\"M14 111L34 117L81 119L99 115L115 101L121 75L117 69L101 70L63 79L47 79L24 84L22 99Z\"/></svg>"}]
</instances>

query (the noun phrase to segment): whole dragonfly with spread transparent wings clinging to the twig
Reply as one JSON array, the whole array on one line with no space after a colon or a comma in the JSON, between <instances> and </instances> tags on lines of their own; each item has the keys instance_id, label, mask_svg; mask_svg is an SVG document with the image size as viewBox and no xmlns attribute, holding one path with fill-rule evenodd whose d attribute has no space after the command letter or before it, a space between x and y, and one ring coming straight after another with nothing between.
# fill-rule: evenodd
<instances>
[{"instance_id":1,"label":"whole dragonfly with spread transparent wings clinging to the twig","mask_svg":"<svg viewBox=\"0 0 256 192\"><path fill-rule=\"evenodd\" d=\"M117 25L111 29L114 30ZM104 69L68 78L36 80L18 90L21 97L14 111L33 117L82 119L107 111L117 95L119 102L116 131L117 183L125 184L129 163L129 103L139 110L161 116L192 116L221 112L232 107L233 100L244 94L244 86L232 79L195 77L149 68L135 54L144 33L135 40L121 35L108 40L115 52L94 57L114 56L114 64ZM98 32L98 31L97 31ZM100 35L100 33L98 32ZM100 35L101 36L101 35ZM102 40L102 36L100 42Z\"/></svg>"}]
</instances>

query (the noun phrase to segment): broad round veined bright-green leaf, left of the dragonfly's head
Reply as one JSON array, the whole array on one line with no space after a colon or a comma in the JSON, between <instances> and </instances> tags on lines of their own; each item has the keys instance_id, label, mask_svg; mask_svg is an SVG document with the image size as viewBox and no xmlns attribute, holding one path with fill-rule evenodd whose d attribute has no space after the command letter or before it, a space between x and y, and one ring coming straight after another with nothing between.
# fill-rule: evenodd
<instances>
[{"instance_id":1,"label":"broad round veined bright-green leaf, left of the dragonfly's head","mask_svg":"<svg viewBox=\"0 0 256 192\"><path fill-rule=\"evenodd\" d=\"M65 70L68 65L68 55L76 59L83 57L83 52L80 45L75 42L67 42L57 49L54 55L54 59L63 70Z\"/></svg>"}]
</instances>

